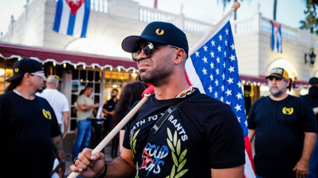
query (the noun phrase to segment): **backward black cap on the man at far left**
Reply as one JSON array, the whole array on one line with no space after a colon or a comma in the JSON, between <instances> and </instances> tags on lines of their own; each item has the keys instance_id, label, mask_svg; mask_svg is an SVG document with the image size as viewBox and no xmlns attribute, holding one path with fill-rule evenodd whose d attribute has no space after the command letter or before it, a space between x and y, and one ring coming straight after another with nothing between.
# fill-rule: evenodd
<instances>
[{"instance_id":1,"label":"backward black cap on the man at far left","mask_svg":"<svg viewBox=\"0 0 318 178\"><path fill-rule=\"evenodd\" d=\"M13 75L6 79L6 82L13 81L25 73L32 73L40 70L44 70L43 65L34 59L21 59L13 64Z\"/></svg>"}]
</instances>

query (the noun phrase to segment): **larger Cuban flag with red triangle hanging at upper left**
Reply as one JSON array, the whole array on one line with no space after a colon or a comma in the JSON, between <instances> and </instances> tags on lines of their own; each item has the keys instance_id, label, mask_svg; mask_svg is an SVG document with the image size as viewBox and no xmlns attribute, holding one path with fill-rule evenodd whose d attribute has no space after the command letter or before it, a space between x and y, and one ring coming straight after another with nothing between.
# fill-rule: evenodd
<instances>
[{"instance_id":1,"label":"larger Cuban flag with red triangle hanging at upper left","mask_svg":"<svg viewBox=\"0 0 318 178\"><path fill-rule=\"evenodd\" d=\"M86 37L90 0L58 0L53 30L65 35Z\"/></svg>"}]
</instances>

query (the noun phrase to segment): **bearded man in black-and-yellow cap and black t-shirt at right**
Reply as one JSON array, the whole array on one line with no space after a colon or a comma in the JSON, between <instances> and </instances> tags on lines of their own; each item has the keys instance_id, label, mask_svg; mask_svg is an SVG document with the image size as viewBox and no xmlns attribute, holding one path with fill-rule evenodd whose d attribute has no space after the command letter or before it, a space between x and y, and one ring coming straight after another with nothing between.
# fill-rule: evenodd
<instances>
[{"instance_id":1,"label":"bearded man in black-and-yellow cap and black t-shirt at right","mask_svg":"<svg viewBox=\"0 0 318 178\"><path fill-rule=\"evenodd\" d=\"M285 69L273 68L266 79L270 95L253 103L247 119L250 141L255 135L256 178L305 178L317 139L314 112L286 93Z\"/></svg>"}]
</instances>

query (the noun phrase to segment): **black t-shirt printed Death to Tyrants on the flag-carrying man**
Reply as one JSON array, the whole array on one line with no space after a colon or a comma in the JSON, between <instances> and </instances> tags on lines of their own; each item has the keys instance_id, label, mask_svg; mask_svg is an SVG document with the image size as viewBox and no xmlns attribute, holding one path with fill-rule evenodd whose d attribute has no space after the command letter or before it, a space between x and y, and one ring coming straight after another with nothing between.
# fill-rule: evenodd
<instances>
[{"instance_id":1,"label":"black t-shirt printed Death to Tyrants on the flag-carrying man","mask_svg":"<svg viewBox=\"0 0 318 178\"><path fill-rule=\"evenodd\" d=\"M144 149L155 122L184 99ZM140 178L210 178L211 168L245 163L243 131L232 108L198 89L186 98L157 100L152 95L126 125L123 146L133 151Z\"/></svg>"}]
</instances>

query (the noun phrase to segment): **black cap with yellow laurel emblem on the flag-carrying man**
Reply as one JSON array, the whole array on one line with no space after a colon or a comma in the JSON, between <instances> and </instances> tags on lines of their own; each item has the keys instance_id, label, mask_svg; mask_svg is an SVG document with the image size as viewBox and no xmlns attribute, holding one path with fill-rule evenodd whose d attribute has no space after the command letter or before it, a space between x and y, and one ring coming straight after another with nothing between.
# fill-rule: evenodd
<instances>
[{"instance_id":1,"label":"black cap with yellow laurel emblem on the flag-carrying man","mask_svg":"<svg viewBox=\"0 0 318 178\"><path fill-rule=\"evenodd\" d=\"M182 30L167 22L149 23L140 36L126 37L121 47L125 52L132 53L137 47L138 42L143 39L160 45L172 45L182 48L188 56L188 40Z\"/></svg>"}]
</instances>

